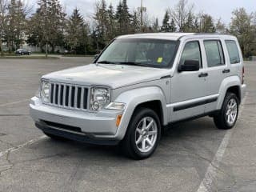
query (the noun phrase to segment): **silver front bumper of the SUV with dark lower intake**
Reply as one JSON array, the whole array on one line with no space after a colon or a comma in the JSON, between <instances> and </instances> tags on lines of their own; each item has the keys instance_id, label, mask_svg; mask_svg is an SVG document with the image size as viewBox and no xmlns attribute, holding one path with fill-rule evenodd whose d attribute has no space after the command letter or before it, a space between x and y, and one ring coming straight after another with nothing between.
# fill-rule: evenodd
<instances>
[{"instance_id":1,"label":"silver front bumper of the SUV with dark lower intake","mask_svg":"<svg viewBox=\"0 0 256 192\"><path fill-rule=\"evenodd\" d=\"M42 104L41 99L31 98L30 115L42 131L64 138L99 144L120 141L116 120L122 110L102 110L97 113L66 110Z\"/></svg>"}]
</instances>

